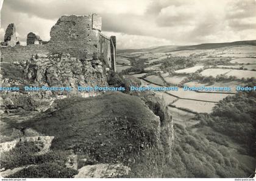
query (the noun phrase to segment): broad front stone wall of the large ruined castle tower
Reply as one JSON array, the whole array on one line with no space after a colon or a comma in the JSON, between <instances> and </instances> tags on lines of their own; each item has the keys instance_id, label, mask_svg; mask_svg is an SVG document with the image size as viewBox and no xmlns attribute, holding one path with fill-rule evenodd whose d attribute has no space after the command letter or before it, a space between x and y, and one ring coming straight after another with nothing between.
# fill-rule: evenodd
<instances>
[{"instance_id":1,"label":"broad front stone wall of the large ruined castle tower","mask_svg":"<svg viewBox=\"0 0 256 181\"><path fill-rule=\"evenodd\" d=\"M88 16L62 16L52 27L49 45L54 53L68 52L76 58L94 58L99 57L99 36L101 28L94 19L95 15Z\"/></svg>"}]
</instances>

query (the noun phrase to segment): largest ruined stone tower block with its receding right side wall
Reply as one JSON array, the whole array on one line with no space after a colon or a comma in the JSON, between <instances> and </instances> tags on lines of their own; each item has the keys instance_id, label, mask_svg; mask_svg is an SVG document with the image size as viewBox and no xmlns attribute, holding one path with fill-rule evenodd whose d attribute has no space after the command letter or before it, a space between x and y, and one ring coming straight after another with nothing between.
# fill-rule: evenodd
<instances>
[{"instance_id":1,"label":"largest ruined stone tower block with its receding right side wall","mask_svg":"<svg viewBox=\"0 0 256 181\"><path fill-rule=\"evenodd\" d=\"M100 16L62 16L51 29L50 44L56 52L69 52L77 58L100 59L115 70L113 40L101 33Z\"/></svg>"}]
</instances>

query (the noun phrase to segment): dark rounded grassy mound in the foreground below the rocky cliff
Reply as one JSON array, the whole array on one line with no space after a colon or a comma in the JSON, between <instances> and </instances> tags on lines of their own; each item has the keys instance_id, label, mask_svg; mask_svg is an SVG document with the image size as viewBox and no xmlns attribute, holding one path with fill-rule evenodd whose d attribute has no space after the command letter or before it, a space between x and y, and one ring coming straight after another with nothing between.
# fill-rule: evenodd
<instances>
[{"instance_id":1,"label":"dark rounded grassy mound in the foreground below the rocky cliff","mask_svg":"<svg viewBox=\"0 0 256 181\"><path fill-rule=\"evenodd\" d=\"M54 135L54 150L74 149L95 163L123 162L132 177L160 176L160 122L140 98L115 92L59 100L56 108L21 126Z\"/></svg>"}]
</instances>

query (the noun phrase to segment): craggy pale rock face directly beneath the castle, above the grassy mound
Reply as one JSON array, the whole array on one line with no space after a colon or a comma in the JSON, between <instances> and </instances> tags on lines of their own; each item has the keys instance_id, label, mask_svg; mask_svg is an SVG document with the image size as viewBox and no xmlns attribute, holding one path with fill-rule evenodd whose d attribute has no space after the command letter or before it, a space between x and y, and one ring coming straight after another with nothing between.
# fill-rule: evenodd
<instances>
[{"instance_id":1,"label":"craggy pale rock face directly beneath the castle, above the grassy mound","mask_svg":"<svg viewBox=\"0 0 256 181\"><path fill-rule=\"evenodd\" d=\"M14 64L21 69L20 75L12 75L12 79L3 75L1 85L19 86L21 91L1 93L2 106L7 109L45 111L57 98L88 97L77 91L78 86L107 86L105 65L99 60L77 60L69 54L37 54ZM72 91L23 91L24 86L71 87Z\"/></svg>"}]
</instances>

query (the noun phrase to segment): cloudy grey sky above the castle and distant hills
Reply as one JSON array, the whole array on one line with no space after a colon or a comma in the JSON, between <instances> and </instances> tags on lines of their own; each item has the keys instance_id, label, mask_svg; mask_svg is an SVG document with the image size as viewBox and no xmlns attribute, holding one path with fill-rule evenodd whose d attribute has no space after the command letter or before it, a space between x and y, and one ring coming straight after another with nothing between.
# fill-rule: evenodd
<instances>
[{"instance_id":1,"label":"cloudy grey sky above the castle and distant hills","mask_svg":"<svg viewBox=\"0 0 256 181\"><path fill-rule=\"evenodd\" d=\"M60 16L90 13L119 49L256 39L256 0L4 0L0 36L14 22L21 42L47 41Z\"/></svg>"}]
</instances>

